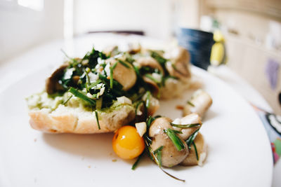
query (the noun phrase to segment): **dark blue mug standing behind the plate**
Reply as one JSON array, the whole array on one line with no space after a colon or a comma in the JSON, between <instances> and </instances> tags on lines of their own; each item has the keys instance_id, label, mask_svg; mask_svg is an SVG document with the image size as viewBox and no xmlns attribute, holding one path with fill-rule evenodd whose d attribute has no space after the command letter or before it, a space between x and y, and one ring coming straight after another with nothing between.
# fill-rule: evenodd
<instances>
[{"instance_id":1,"label":"dark blue mug standing behind the plate","mask_svg":"<svg viewBox=\"0 0 281 187\"><path fill-rule=\"evenodd\" d=\"M207 70L210 64L214 35L197 29L181 28L177 34L178 44L190 53L190 62Z\"/></svg>"}]
</instances>

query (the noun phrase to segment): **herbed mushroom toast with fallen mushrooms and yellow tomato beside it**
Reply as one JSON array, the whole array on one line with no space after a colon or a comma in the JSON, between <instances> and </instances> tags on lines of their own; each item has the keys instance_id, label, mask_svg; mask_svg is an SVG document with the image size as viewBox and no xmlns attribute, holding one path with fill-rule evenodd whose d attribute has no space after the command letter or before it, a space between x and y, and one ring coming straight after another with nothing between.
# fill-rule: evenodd
<instances>
[{"instance_id":1,"label":"herbed mushroom toast with fallen mushrooms and yellow tomato beside it","mask_svg":"<svg viewBox=\"0 0 281 187\"><path fill-rule=\"evenodd\" d=\"M146 147L160 167L200 165L207 154L198 132L200 116L211 97L195 92L184 106L183 118L152 117L159 99L179 97L189 88L189 60L181 47L165 52L141 46L127 51L117 46L102 52L93 48L82 58L68 57L47 78L46 89L27 98L30 125L51 133L116 132L113 148L122 158L136 158ZM118 139L131 127L136 132L132 139L138 142L133 153L120 143L124 139Z\"/></svg>"}]
</instances>

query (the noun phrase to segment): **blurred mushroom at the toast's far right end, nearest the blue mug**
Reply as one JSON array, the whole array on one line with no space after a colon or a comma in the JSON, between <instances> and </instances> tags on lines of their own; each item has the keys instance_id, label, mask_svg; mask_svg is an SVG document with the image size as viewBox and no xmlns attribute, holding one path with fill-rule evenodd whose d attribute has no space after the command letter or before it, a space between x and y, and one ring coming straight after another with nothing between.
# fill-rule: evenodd
<instances>
[{"instance_id":1,"label":"blurred mushroom at the toast's far right end, nearest the blue mug","mask_svg":"<svg viewBox=\"0 0 281 187\"><path fill-rule=\"evenodd\" d=\"M185 48L177 47L171 50L170 60L166 63L166 69L171 76L176 76L181 79L191 77L189 69L190 55Z\"/></svg>"}]
</instances>

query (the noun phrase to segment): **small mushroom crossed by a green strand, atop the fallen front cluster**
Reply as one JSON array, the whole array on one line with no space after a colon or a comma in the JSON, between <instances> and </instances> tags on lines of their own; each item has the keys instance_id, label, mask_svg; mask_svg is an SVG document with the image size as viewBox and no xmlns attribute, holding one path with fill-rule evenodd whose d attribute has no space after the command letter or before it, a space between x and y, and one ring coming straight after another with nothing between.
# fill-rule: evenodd
<instances>
[{"instance_id":1,"label":"small mushroom crossed by a green strand, atop the fallen front cluster","mask_svg":"<svg viewBox=\"0 0 281 187\"><path fill-rule=\"evenodd\" d=\"M201 125L201 119L200 116L198 116L197 113L191 113L188 116L185 116L183 118L177 118L176 120L173 121L174 124L176 125L190 125L190 124L195 124L195 127L190 127L190 128L179 128L179 127L174 127L174 130L181 131L183 134L178 134L178 137L181 137L183 140L187 140L190 135L198 130Z\"/></svg>"}]
</instances>

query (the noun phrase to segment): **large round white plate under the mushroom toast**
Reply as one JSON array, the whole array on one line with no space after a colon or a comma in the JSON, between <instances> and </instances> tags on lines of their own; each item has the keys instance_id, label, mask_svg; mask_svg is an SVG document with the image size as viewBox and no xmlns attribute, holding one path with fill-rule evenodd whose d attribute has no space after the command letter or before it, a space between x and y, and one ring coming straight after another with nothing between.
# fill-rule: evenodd
<instances>
[{"instance_id":1,"label":"large round white plate under the mushroom toast","mask_svg":"<svg viewBox=\"0 0 281 187\"><path fill-rule=\"evenodd\" d=\"M166 169L185 183L148 158L131 170L134 160L112 151L113 134L33 130L24 98L44 86L47 72L30 74L0 94L0 186L270 186L273 161L261 121L242 97L206 71L192 67L214 99L201 130L209 145L207 161L203 167ZM162 102L158 113L180 117L175 106L185 101Z\"/></svg>"}]
</instances>

